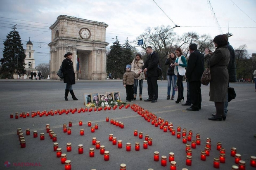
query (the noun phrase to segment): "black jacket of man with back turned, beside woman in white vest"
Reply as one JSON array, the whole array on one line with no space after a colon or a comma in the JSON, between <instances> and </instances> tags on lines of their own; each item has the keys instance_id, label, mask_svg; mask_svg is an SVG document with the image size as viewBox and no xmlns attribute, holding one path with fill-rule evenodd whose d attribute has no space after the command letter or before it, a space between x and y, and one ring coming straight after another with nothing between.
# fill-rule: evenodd
<instances>
[{"instance_id":1,"label":"black jacket of man with back turned, beside woman in white vest","mask_svg":"<svg viewBox=\"0 0 256 170\"><path fill-rule=\"evenodd\" d=\"M204 54L195 50L187 61L186 78L188 82L200 81L204 72Z\"/></svg>"}]
</instances>

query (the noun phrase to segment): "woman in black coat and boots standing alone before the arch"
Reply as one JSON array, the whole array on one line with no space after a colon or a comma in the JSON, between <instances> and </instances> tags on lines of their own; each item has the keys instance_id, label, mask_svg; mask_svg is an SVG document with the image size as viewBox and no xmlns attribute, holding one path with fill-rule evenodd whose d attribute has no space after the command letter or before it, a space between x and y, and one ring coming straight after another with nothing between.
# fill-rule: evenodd
<instances>
[{"instance_id":1,"label":"woman in black coat and boots standing alone before the arch","mask_svg":"<svg viewBox=\"0 0 256 170\"><path fill-rule=\"evenodd\" d=\"M64 83L66 83L65 100L68 101L69 92L73 100L78 100L73 92L72 84L76 84L71 52L64 55L66 59L62 61L62 72L64 73Z\"/></svg>"}]
</instances>

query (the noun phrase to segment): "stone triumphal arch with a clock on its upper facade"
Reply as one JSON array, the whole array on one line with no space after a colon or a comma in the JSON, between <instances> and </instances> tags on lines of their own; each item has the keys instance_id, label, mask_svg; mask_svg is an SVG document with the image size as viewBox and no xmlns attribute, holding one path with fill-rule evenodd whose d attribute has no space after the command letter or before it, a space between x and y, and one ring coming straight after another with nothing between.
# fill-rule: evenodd
<instances>
[{"instance_id":1,"label":"stone triumphal arch with a clock on its upper facade","mask_svg":"<svg viewBox=\"0 0 256 170\"><path fill-rule=\"evenodd\" d=\"M106 23L60 15L50 26L50 79L60 79L57 72L67 52L73 53L77 79L107 79Z\"/></svg>"}]
</instances>

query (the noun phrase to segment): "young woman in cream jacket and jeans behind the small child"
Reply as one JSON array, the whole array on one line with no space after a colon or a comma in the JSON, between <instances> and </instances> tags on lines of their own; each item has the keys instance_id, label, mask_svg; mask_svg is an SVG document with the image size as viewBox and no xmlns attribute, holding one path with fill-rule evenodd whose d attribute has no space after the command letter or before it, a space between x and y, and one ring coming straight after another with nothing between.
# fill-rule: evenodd
<instances>
[{"instance_id":1,"label":"young woman in cream jacket and jeans behind the small child","mask_svg":"<svg viewBox=\"0 0 256 170\"><path fill-rule=\"evenodd\" d=\"M143 65L144 65L144 61L141 58L141 54L136 54L133 62L131 63L132 71L137 74L141 70ZM142 100L142 84L144 79L145 79L144 72L140 73L140 77L134 78L134 100L136 100L136 97L137 97L138 81L140 83L140 100Z\"/></svg>"}]
</instances>

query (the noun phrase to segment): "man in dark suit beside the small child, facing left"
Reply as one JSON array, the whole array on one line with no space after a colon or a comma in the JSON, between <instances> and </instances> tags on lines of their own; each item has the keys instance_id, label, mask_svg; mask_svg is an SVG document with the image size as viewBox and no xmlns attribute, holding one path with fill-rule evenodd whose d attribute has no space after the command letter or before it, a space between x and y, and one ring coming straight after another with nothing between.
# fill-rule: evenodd
<instances>
[{"instance_id":1,"label":"man in dark suit beside the small child, facing left","mask_svg":"<svg viewBox=\"0 0 256 170\"><path fill-rule=\"evenodd\" d=\"M146 102L157 102L158 99L158 85L157 85L157 65L159 62L159 55L156 51L153 51L152 47L148 46L146 48L147 51L147 60L142 67L142 70L147 75L147 92L148 92L148 99L144 100ZM141 70L141 71L142 71Z\"/></svg>"}]
</instances>

